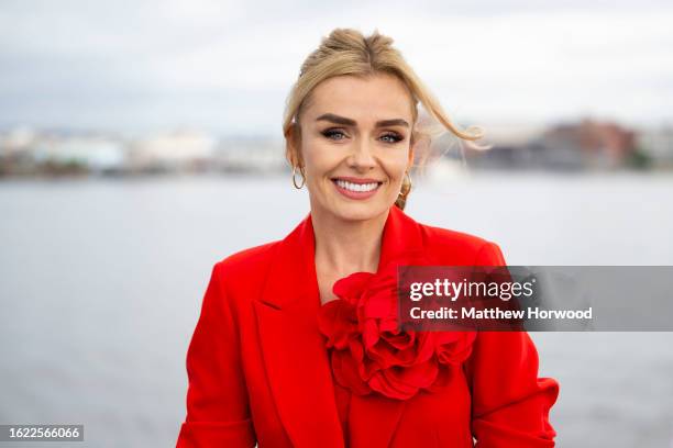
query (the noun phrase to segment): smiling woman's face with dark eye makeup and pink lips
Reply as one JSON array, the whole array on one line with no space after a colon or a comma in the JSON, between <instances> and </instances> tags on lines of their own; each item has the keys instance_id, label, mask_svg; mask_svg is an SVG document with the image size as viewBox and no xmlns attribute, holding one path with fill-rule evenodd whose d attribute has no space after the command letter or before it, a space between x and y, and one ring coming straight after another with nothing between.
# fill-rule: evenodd
<instances>
[{"instance_id":1,"label":"smiling woman's face with dark eye makeup and pink lips","mask_svg":"<svg viewBox=\"0 0 673 448\"><path fill-rule=\"evenodd\" d=\"M311 212L368 220L396 201L413 160L411 96L391 75L318 85L300 116Z\"/></svg>"}]
</instances>

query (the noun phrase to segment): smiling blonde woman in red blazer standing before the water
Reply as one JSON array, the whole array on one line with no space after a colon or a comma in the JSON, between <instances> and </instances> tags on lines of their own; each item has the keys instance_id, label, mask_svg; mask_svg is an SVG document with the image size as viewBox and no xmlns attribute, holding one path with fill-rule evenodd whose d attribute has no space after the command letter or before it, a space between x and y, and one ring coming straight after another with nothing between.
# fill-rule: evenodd
<instances>
[{"instance_id":1,"label":"smiling blonde woman in red blazer standing before the water","mask_svg":"<svg viewBox=\"0 0 673 448\"><path fill-rule=\"evenodd\" d=\"M450 123L391 42L336 29L304 63L284 131L310 213L216 264L178 447L554 445L559 385L538 379L528 334L397 334L357 311L399 265L505 265L496 244L404 213L418 102L459 137L479 136ZM430 356L417 356L420 340Z\"/></svg>"}]
</instances>

